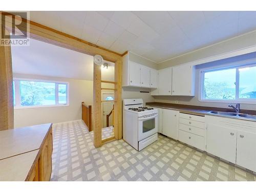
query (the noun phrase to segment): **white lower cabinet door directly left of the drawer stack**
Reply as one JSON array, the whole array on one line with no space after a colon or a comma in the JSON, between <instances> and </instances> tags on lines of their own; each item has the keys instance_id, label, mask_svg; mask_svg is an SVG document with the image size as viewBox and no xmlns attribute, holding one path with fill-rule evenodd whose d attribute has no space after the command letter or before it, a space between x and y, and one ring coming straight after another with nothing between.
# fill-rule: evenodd
<instances>
[{"instance_id":1,"label":"white lower cabinet door directly left of the drawer stack","mask_svg":"<svg viewBox=\"0 0 256 192\"><path fill-rule=\"evenodd\" d=\"M163 109L163 135L178 140L179 112Z\"/></svg>"}]
</instances>

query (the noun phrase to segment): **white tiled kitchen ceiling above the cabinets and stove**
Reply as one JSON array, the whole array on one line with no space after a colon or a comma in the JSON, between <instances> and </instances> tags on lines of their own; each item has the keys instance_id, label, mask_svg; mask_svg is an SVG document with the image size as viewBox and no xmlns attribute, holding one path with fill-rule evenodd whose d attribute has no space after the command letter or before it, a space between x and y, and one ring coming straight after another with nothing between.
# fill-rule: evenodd
<instances>
[{"instance_id":1,"label":"white tiled kitchen ceiling above the cabinets and stove","mask_svg":"<svg viewBox=\"0 0 256 192\"><path fill-rule=\"evenodd\" d=\"M256 11L31 11L30 20L155 62L256 29Z\"/></svg>"}]
</instances>

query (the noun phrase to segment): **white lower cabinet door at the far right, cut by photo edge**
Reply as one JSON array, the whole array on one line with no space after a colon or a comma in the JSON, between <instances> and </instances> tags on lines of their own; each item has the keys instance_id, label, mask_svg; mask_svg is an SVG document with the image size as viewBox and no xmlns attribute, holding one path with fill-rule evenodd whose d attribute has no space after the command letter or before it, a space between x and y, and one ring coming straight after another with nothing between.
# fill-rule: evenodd
<instances>
[{"instance_id":1,"label":"white lower cabinet door at the far right, cut by photo edge","mask_svg":"<svg viewBox=\"0 0 256 192\"><path fill-rule=\"evenodd\" d=\"M256 134L238 132L237 164L256 172Z\"/></svg>"}]
</instances>

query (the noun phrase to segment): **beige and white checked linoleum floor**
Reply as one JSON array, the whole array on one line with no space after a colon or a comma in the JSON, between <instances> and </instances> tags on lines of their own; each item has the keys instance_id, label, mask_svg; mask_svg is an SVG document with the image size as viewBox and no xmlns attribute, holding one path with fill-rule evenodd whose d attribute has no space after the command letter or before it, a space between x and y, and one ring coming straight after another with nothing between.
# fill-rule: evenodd
<instances>
[{"instance_id":1,"label":"beige and white checked linoleum floor","mask_svg":"<svg viewBox=\"0 0 256 192\"><path fill-rule=\"evenodd\" d=\"M53 125L52 162L51 181L256 181L162 135L140 152L123 140L95 148L82 121Z\"/></svg>"}]
</instances>

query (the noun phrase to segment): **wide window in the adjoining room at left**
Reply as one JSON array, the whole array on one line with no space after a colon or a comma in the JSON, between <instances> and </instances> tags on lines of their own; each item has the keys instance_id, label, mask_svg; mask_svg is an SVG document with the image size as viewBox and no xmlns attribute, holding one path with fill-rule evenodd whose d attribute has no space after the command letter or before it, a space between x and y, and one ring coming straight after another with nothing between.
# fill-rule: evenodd
<instances>
[{"instance_id":1,"label":"wide window in the adjoining room at left","mask_svg":"<svg viewBox=\"0 0 256 192\"><path fill-rule=\"evenodd\" d=\"M68 83L32 79L14 79L16 108L68 105Z\"/></svg>"}]
</instances>

